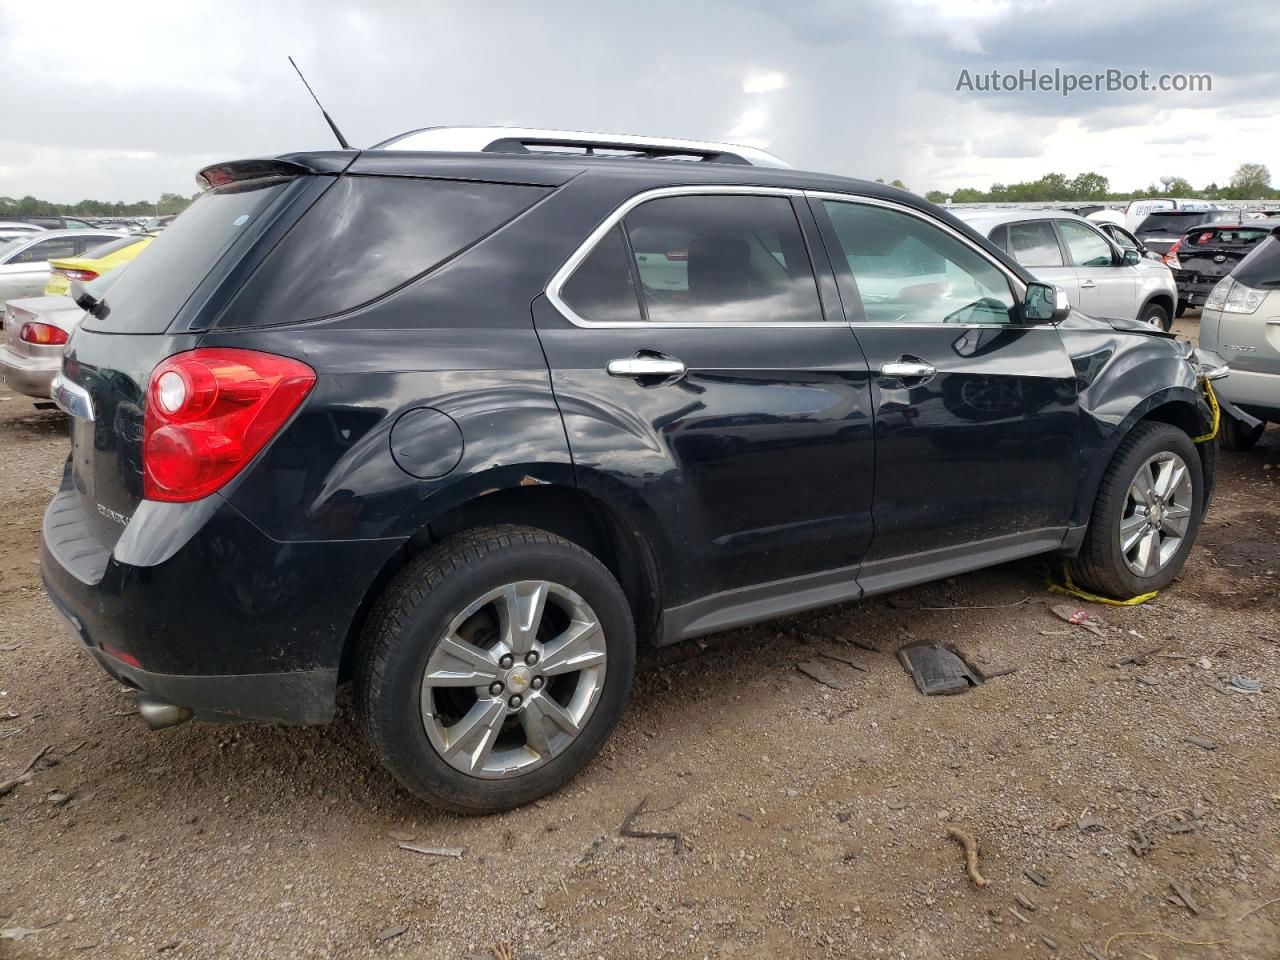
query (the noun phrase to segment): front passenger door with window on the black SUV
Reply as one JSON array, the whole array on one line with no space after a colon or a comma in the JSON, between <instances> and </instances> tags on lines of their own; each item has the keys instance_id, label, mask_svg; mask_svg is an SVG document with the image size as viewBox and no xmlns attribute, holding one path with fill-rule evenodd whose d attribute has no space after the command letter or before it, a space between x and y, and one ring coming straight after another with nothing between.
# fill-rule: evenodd
<instances>
[{"instance_id":1,"label":"front passenger door with window on the black SUV","mask_svg":"<svg viewBox=\"0 0 1280 960\"><path fill-rule=\"evenodd\" d=\"M1056 328L1023 323L1020 284L925 214L812 204L873 374L876 531L859 582L887 590L1059 547L1078 416Z\"/></svg>"}]
</instances>

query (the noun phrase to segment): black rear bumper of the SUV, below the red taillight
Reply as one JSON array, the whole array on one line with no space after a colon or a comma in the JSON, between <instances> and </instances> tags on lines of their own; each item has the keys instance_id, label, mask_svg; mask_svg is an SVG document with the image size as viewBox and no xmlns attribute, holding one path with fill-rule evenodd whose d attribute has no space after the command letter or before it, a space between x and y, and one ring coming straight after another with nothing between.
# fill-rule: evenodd
<instances>
[{"instance_id":1,"label":"black rear bumper of the SUV, below the red taillight","mask_svg":"<svg viewBox=\"0 0 1280 960\"><path fill-rule=\"evenodd\" d=\"M219 498L193 531L180 520L156 531L186 538L164 559L134 564L83 512L64 479L45 516L41 576L108 673L207 718L333 717L352 623L399 541L279 543Z\"/></svg>"}]
</instances>

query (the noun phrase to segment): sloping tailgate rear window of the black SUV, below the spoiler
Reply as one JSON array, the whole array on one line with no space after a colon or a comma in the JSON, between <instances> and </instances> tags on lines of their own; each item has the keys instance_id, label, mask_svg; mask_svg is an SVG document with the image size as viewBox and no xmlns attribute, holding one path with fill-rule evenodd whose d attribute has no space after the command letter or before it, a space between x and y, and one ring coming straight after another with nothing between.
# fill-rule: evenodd
<instances>
[{"instance_id":1,"label":"sloping tailgate rear window of the black SUV, below the spoiler","mask_svg":"<svg viewBox=\"0 0 1280 960\"><path fill-rule=\"evenodd\" d=\"M252 180L206 191L128 270L87 289L104 298L105 316L86 316L84 328L106 333L164 333L196 287L284 189L287 180ZM137 237L132 238L134 242Z\"/></svg>"}]
</instances>

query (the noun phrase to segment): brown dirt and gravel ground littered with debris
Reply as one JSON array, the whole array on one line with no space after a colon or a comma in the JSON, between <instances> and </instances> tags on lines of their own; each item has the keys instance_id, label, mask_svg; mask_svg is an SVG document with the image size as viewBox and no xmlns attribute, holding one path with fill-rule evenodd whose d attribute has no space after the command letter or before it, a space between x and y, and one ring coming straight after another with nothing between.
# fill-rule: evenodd
<instances>
[{"instance_id":1,"label":"brown dirt and gravel ground littered with debris","mask_svg":"<svg viewBox=\"0 0 1280 960\"><path fill-rule=\"evenodd\" d=\"M595 763L472 819L401 791L347 696L147 732L41 591L64 433L0 392L0 780L49 748L0 799L0 957L1280 957L1277 429L1101 636L1018 563L649 652ZM924 698L913 640L1015 672ZM620 836L645 799L682 850Z\"/></svg>"}]
</instances>

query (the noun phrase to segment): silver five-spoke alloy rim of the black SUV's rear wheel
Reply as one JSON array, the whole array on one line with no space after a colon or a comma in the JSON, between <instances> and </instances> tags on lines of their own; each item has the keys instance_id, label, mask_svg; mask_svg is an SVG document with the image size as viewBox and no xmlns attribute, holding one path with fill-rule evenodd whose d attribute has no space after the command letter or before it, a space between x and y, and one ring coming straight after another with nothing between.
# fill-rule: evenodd
<instances>
[{"instance_id":1,"label":"silver five-spoke alloy rim of the black SUV's rear wheel","mask_svg":"<svg viewBox=\"0 0 1280 960\"><path fill-rule=\"evenodd\" d=\"M452 620L422 672L422 726L457 771L502 780L562 754L604 689L595 611L568 588L522 580Z\"/></svg>"}]
</instances>

